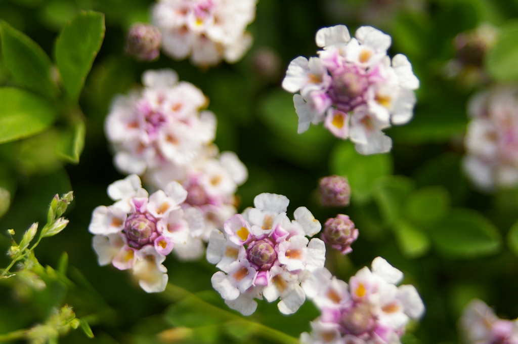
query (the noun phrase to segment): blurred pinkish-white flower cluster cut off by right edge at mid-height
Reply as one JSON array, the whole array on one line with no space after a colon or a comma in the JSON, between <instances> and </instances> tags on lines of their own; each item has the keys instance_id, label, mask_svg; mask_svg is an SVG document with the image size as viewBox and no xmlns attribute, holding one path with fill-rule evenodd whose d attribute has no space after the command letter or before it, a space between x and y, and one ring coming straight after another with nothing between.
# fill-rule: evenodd
<instances>
[{"instance_id":1,"label":"blurred pinkish-white flower cluster cut off by right edge at mid-height","mask_svg":"<svg viewBox=\"0 0 518 344\"><path fill-rule=\"evenodd\" d=\"M473 96L464 169L481 190L518 184L518 88L501 86Z\"/></svg>"}]
</instances>

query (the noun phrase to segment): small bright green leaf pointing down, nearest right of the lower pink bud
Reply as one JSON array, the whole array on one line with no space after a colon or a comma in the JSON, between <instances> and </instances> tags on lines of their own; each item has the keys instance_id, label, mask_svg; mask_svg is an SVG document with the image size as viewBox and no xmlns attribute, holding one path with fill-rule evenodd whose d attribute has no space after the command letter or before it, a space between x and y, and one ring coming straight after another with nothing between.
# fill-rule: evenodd
<instances>
[{"instance_id":1,"label":"small bright green leaf pointing down, nearest right of the lower pink bud","mask_svg":"<svg viewBox=\"0 0 518 344\"><path fill-rule=\"evenodd\" d=\"M401 252L408 258L425 255L430 248L429 237L406 221L394 225L394 234Z\"/></svg>"}]
</instances>

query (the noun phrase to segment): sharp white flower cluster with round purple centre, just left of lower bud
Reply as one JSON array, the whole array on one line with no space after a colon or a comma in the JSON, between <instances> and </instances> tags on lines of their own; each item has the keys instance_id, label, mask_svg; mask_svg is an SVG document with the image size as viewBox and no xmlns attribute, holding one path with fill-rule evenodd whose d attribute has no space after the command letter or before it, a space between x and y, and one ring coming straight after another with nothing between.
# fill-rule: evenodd
<instances>
[{"instance_id":1,"label":"sharp white flower cluster with round purple centre, just left of lower bud","mask_svg":"<svg viewBox=\"0 0 518 344\"><path fill-rule=\"evenodd\" d=\"M306 207L297 208L290 221L289 202L282 195L260 194L255 208L228 219L224 233L210 235L207 260L222 270L212 276L212 286L244 315L255 311L254 298L263 297L280 298L284 314L297 311L306 299L300 283L324 266L324 242L306 237L320 231L320 222Z\"/></svg>"}]
</instances>

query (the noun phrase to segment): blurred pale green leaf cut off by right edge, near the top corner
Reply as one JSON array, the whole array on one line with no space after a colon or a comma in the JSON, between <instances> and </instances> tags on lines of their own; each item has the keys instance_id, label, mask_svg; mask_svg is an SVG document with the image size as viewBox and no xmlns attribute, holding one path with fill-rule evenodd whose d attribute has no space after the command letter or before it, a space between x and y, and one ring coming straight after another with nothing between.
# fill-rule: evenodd
<instances>
[{"instance_id":1,"label":"blurred pale green leaf cut off by right edge, near the top corner","mask_svg":"<svg viewBox=\"0 0 518 344\"><path fill-rule=\"evenodd\" d=\"M518 21L500 26L495 46L487 52L485 67L497 81L518 79Z\"/></svg>"}]
</instances>

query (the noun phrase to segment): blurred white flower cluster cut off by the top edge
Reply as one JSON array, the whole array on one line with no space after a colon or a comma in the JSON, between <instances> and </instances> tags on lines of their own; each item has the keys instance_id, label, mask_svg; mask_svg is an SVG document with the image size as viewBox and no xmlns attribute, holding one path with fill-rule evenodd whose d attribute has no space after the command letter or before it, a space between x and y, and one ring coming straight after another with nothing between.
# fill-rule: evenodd
<instances>
[{"instance_id":1,"label":"blurred white flower cluster cut off by the top edge","mask_svg":"<svg viewBox=\"0 0 518 344\"><path fill-rule=\"evenodd\" d=\"M153 24L162 31L162 47L172 58L189 55L198 66L239 61L252 45L245 32L255 18L256 0L159 0Z\"/></svg>"}]
</instances>

